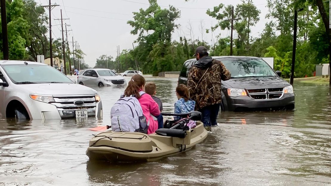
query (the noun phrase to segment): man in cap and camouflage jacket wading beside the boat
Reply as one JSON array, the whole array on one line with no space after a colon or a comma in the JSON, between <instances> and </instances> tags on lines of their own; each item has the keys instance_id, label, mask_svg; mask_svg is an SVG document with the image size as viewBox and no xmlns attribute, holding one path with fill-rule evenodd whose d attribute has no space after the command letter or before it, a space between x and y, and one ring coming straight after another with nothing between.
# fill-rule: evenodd
<instances>
[{"instance_id":1,"label":"man in cap and camouflage jacket wading beside the boat","mask_svg":"<svg viewBox=\"0 0 331 186\"><path fill-rule=\"evenodd\" d=\"M195 50L197 61L188 74L187 87L195 104L195 110L202 113L202 122L208 131L217 126L217 115L222 101L221 80L230 79L231 73L222 62L208 56L207 48Z\"/></svg>"}]
</instances>

